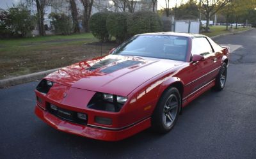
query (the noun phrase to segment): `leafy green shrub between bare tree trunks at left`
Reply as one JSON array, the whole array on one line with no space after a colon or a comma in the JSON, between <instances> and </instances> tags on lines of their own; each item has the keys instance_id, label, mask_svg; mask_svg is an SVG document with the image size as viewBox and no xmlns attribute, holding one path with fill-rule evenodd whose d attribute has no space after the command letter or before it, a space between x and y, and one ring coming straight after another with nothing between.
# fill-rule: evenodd
<instances>
[{"instance_id":1,"label":"leafy green shrub between bare tree trunks at left","mask_svg":"<svg viewBox=\"0 0 256 159\"><path fill-rule=\"evenodd\" d=\"M71 34L72 33L72 20L64 13L51 13L49 18L54 26L55 34Z\"/></svg>"}]
</instances>

